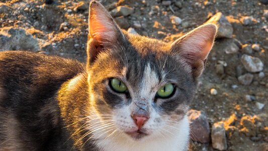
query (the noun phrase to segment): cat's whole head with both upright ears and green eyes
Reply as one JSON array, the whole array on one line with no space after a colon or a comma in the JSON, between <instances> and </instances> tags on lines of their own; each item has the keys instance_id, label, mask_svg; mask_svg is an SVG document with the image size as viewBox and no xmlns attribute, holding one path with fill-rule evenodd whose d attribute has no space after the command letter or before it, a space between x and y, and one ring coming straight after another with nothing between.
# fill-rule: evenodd
<instances>
[{"instance_id":1,"label":"cat's whole head with both upright ears and green eyes","mask_svg":"<svg viewBox=\"0 0 268 151\"><path fill-rule=\"evenodd\" d=\"M116 130L137 140L160 136L179 124L186 117L217 27L203 25L166 43L121 30L98 2L91 3L88 20L90 104L106 125L103 132Z\"/></svg>"}]
</instances>

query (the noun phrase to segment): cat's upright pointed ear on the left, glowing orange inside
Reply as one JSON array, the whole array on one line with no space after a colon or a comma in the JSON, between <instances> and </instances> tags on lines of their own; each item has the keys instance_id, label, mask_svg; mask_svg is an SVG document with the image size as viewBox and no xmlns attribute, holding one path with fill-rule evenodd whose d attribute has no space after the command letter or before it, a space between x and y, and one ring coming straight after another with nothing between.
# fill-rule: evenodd
<instances>
[{"instance_id":1,"label":"cat's upright pointed ear on the left, glowing orange inside","mask_svg":"<svg viewBox=\"0 0 268 151\"><path fill-rule=\"evenodd\" d=\"M88 16L87 64L92 64L100 52L113 49L124 39L109 12L101 3L92 1Z\"/></svg>"}]
</instances>

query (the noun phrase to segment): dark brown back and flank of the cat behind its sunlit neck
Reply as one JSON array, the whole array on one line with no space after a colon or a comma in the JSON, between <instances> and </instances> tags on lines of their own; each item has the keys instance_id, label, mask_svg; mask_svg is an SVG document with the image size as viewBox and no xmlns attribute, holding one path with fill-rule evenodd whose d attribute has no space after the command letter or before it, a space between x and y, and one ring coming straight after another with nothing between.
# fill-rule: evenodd
<instances>
[{"instance_id":1,"label":"dark brown back and flank of the cat behind its sunlit neck","mask_svg":"<svg viewBox=\"0 0 268 151\"><path fill-rule=\"evenodd\" d=\"M63 145L68 133L60 118L57 91L82 72L83 64L73 60L1 52L0 150L50 150Z\"/></svg>"}]
</instances>

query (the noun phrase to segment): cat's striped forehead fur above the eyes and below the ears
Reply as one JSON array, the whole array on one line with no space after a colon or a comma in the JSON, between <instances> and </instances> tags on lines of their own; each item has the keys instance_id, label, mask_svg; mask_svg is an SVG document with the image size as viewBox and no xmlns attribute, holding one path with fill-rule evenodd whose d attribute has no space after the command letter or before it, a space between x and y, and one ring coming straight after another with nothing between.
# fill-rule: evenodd
<instances>
[{"instance_id":1,"label":"cat's striped forehead fur above the eyes and below the ears","mask_svg":"<svg viewBox=\"0 0 268 151\"><path fill-rule=\"evenodd\" d=\"M179 56L170 52L170 44L140 35L126 34L122 42L98 58L98 77L117 77L131 85L142 82L144 75L153 74L155 81L179 81L191 69ZM109 73L109 74L107 74Z\"/></svg>"}]
</instances>

